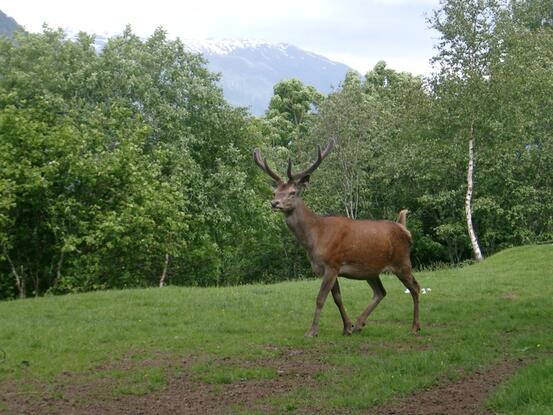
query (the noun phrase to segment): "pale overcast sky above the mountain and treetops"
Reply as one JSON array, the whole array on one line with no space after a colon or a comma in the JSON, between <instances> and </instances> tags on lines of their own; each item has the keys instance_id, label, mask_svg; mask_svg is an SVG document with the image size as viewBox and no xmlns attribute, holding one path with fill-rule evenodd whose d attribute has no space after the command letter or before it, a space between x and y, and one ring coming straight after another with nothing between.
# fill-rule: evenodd
<instances>
[{"instance_id":1,"label":"pale overcast sky above the mountain and treetops","mask_svg":"<svg viewBox=\"0 0 553 415\"><path fill-rule=\"evenodd\" d=\"M439 0L2 0L0 10L31 32L42 24L149 36L163 26L181 39L239 38L291 43L361 73L378 60L415 74L430 71L437 34L426 17Z\"/></svg>"}]
</instances>

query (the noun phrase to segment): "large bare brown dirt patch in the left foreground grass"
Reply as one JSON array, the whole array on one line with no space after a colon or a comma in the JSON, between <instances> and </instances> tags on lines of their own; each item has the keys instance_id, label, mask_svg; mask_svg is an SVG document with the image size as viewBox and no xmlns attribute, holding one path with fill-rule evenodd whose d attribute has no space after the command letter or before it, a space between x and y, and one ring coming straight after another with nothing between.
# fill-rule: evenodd
<instances>
[{"instance_id":1,"label":"large bare brown dirt patch in the left foreground grass","mask_svg":"<svg viewBox=\"0 0 553 415\"><path fill-rule=\"evenodd\" d=\"M280 349L275 357L241 361L216 358L222 364L242 367L261 365L273 368L272 379L239 380L231 384L199 381L191 371L206 356L175 361L167 356L138 361L125 358L95 368L95 373L63 373L53 381L10 381L0 384L0 408L11 414L225 414L238 407L274 412L263 399L315 383L325 369L310 352ZM114 394L117 380L109 371L140 367L161 367L170 373L168 383L144 395ZM103 372L106 372L103 375Z\"/></svg>"}]
</instances>

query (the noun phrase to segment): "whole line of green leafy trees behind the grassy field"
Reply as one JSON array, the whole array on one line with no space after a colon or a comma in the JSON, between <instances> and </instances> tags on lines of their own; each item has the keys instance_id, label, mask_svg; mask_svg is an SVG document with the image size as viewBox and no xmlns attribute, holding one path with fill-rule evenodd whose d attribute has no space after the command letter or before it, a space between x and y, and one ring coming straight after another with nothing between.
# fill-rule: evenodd
<instances>
[{"instance_id":1,"label":"whole line of green leafy trees behind the grassy field","mask_svg":"<svg viewBox=\"0 0 553 415\"><path fill-rule=\"evenodd\" d=\"M48 27L1 39L0 299L308 276L252 151L282 172L330 138L306 203L409 209L419 267L551 241L551 6L443 1L430 76L379 62L326 96L282 81L263 117L162 29L99 52Z\"/></svg>"}]
</instances>

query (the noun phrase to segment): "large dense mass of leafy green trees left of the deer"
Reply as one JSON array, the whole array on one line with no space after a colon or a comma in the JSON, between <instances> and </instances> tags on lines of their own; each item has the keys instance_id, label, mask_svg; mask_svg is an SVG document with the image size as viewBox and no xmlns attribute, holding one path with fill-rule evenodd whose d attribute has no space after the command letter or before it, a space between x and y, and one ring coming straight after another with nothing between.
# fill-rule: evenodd
<instances>
[{"instance_id":1,"label":"large dense mass of leafy green trees left of the deer","mask_svg":"<svg viewBox=\"0 0 553 415\"><path fill-rule=\"evenodd\" d=\"M92 41L0 43L0 298L154 285L165 255L174 283L259 278L247 115L162 30Z\"/></svg>"}]
</instances>

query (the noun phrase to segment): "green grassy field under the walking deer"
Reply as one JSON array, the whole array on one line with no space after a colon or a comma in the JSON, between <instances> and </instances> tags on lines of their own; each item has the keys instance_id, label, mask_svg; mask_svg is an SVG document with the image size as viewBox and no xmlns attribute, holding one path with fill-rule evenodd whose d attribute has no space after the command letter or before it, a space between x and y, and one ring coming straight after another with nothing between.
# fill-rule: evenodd
<instances>
[{"instance_id":1,"label":"green grassy field under the walking deer","mask_svg":"<svg viewBox=\"0 0 553 415\"><path fill-rule=\"evenodd\" d=\"M318 280L2 302L0 395L8 384L27 385L21 393L37 394L37 382L56 384L68 373L92 382L101 372L115 382L111 396L144 396L163 391L184 370L168 362L183 360L194 381L223 390L237 382L277 379L282 374L275 362L299 355L313 362L311 381L263 398L265 408L362 413L498 362L523 359L527 365L486 406L505 414L553 413L553 246L509 249L481 264L416 277L431 289L421 296L419 336L409 334L411 296L392 275L383 277L388 296L364 331L351 337L341 335L331 298L318 337L303 337ZM341 288L354 318L371 290L349 280L341 280ZM163 364L143 364L152 359ZM134 364L122 370L122 361ZM8 409L0 401L0 413ZM255 413L240 405L232 411Z\"/></svg>"}]
</instances>

